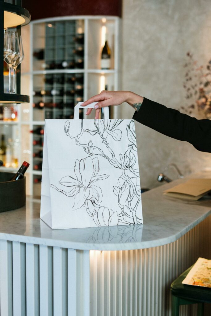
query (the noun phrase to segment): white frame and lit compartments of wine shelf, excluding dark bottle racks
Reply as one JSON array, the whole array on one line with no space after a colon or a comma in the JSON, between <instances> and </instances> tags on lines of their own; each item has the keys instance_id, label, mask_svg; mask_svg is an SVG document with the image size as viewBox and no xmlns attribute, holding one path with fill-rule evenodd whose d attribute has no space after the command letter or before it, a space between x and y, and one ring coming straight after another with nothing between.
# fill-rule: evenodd
<instances>
[{"instance_id":1,"label":"white frame and lit compartments of wine shelf, excluding dark bottle racks","mask_svg":"<svg viewBox=\"0 0 211 316\"><path fill-rule=\"evenodd\" d=\"M45 49L45 28L47 25L56 25L56 22L76 21L77 27L82 27L79 33L84 33L84 68L83 69L41 69L36 65L33 57L35 49ZM68 24L67 24L68 25ZM79 25L79 26L78 26ZM105 30L109 46L112 52L112 68L109 70L100 69L100 55L105 42ZM39 32L39 36L38 36ZM33 134L28 131L37 126L43 126L45 121L34 120L33 116L33 91L36 80L51 74L83 74L84 75L84 100L94 94L98 94L108 85L109 90L119 90L120 74L120 18L116 16L64 16L49 19L32 21L29 25L28 39L30 39L30 52L28 67L22 71L22 88L24 93L30 95L31 103L20 106L20 135L22 135L22 146L20 159L27 160L30 167L27 173L27 194L39 195L40 184L34 185L34 176L41 176L41 171L33 170ZM62 35L63 36L63 35ZM25 46L28 45L25 39ZM59 49L59 46L53 46ZM62 47L61 47L62 49ZM65 59L64 59L65 60ZM39 64L39 61L37 62ZM35 67L36 66L36 67ZM43 83L41 83L42 85ZM40 86L41 86L40 85ZM76 103L76 102L75 102ZM118 107L114 107L113 118L118 118ZM93 118L93 117L90 117ZM37 148L39 149L39 148ZM41 147L40 147L41 149Z\"/></svg>"}]
</instances>

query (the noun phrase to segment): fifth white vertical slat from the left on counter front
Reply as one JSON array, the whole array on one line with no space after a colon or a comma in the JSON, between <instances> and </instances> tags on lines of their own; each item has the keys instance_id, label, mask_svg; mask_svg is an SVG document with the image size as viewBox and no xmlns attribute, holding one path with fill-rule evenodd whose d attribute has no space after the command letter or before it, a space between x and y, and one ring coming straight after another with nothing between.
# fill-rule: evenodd
<instances>
[{"instance_id":1,"label":"fifth white vertical slat from the left on counter front","mask_svg":"<svg viewBox=\"0 0 211 316\"><path fill-rule=\"evenodd\" d=\"M53 316L66 315L65 249L53 247Z\"/></svg>"}]
</instances>

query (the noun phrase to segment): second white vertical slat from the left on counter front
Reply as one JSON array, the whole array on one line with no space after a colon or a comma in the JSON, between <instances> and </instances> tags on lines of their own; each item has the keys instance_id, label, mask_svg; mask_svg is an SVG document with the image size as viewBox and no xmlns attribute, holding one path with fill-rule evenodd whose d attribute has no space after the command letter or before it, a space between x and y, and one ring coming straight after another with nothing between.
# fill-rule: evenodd
<instances>
[{"instance_id":1,"label":"second white vertical slat from the left on counter front","mask_svg":"<svg viewBox=\"0 0 211 316\"><path fill-rule=\"evenodd\" d=\"M25 244L12 242L13 316L26 313Z\"/></svg>"}]
</instances>

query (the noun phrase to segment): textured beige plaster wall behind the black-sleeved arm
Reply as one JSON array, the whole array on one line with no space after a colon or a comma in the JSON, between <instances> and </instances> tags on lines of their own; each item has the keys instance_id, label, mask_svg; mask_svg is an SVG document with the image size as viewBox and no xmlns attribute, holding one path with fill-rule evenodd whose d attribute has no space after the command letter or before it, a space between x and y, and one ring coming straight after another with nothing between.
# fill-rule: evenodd
<instances>
[{"instance_id":1,"label":"textured beige plaster wall behind the black-sleeved arm","mask_svg":"<svg viewBox=\"0 0 211 316\"><path fill-rule=\"evenodd\" d=\"M178 108L187 104L183 89L186 53L205 64L211 58L209 0L123 0L123 90ZM122 117L133 115L122 106ZM165 124L161 121L160 124ZM142 187L155 187L169 163L183 174L211 167L211 154L136 123ZM173 169L166 175L176 179Z\"/></svg>"}]
</instances>

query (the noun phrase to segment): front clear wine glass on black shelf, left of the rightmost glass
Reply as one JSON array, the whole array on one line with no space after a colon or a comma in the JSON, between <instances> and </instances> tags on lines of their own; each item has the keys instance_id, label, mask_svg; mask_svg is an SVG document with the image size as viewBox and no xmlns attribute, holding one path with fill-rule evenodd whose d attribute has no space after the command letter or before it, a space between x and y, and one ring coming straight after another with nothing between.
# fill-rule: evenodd
<instances>
[{"instance_id":1,"label":"front clear wine glass on black shelf, left of the rightmost glass","mask_svg":"<svg viewBox=\"0 0 211 316\"><path fill-rule=\"evenodd\" d=\"M9 44L10 44L10 50L11 52L9 53L8 56L4 58L5 62L8 64L9 67L9 91L8 93L12 93L11 91L11 68L16 61L16 59L20 55L20 44L19 44L19 39L18 39L18 33L9 31Z\"/></svg>"}]
</instances>

